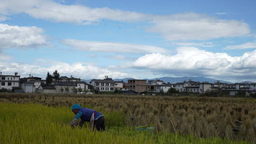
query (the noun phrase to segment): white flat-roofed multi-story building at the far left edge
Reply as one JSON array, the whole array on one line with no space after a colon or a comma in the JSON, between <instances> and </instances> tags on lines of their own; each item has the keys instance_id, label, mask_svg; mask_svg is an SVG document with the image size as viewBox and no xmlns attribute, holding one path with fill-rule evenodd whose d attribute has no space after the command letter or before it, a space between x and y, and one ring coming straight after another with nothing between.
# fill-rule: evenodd
<instances>
[{"instance_id":1,"label":"white flat-roofed multi-story building at the far left edge","mask_svg":"<svg viewBox=\"0 0 256 144\"><path fill-rule=\"evenodd\" d=\"M2 75L0 72L0 89L13 90L13 88L19 87L19 78L18 72L15 72L14 75Z\"/></svg>"}]
</instances>

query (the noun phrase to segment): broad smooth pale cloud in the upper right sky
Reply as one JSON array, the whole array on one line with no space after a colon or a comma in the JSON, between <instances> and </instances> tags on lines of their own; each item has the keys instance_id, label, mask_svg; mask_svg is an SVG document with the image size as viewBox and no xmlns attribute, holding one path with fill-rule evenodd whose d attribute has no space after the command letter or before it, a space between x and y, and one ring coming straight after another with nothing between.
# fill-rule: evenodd
<instances>
[{"instance_id":1,"label":"broad smooth pale cloud in the upper right sky","mask_svg":"<svg viewBox=\"0 0 256 144\"><path fill-rule=\"evenodd\" d=\"M166 40L207 40L219 37L243 36L249 25L238 20L225 20L198 13L181 13L159 17L152 21L148 32L158 33Z\"/></svg>"}]
</instances>

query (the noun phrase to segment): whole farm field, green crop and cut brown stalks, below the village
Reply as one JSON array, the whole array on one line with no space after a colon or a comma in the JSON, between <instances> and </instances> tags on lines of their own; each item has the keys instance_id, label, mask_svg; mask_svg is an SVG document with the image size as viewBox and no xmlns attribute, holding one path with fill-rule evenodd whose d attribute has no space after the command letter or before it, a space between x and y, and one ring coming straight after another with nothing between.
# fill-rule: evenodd
<instances>
[{"instance_id":1,"label":"whole farm field, green crop and cut brown stalks, below the village","mask_svg":"<svg viewBox=\"0 0 256 144\"><path fill-rule=\"evenodd\" d=\"M102 112L107 131L71 129L73 103ZM4 144L249 144L255 119L253 99L0 93ZM154 132L136 130L146 125Z\"/></svg>"}]
</instances>

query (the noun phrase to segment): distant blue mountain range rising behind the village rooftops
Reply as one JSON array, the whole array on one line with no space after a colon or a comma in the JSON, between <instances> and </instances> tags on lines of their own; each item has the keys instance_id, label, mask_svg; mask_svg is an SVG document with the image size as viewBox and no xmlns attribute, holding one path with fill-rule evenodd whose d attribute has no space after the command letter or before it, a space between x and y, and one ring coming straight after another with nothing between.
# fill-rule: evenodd
<instances>
[{"instance_id":1,"label":"distant blue mountain range rising behind the village rooftops","mask_svg":"<svg viewBox=\"0 0 256 144\"><path fill-rule=\"evenodd\" d=\"M114 81L124 81L127 82L128 80L134 80L134 78L124 78L124 79L114 79ZM156 79L144 79L144 80L156 80ZM204 82L204 81L208 81L210 83L214 83L215 81L219 81L219 82L223 82L223 83L232 83L229 81L222 81L222 80L216 80L216 79L210 79L210 78L205 78L205 77L161 77L161 78L157 78L157 80L161 80L164 82L170 82L170 83L177 83L177 82L183 82L183 81L199 81L199 82ZM90 82L91 80L82 80L85 82ZM251 81L250 81L251 82ZM243 82L244 83L244 82Z\"/></svg>"}]
</instances>

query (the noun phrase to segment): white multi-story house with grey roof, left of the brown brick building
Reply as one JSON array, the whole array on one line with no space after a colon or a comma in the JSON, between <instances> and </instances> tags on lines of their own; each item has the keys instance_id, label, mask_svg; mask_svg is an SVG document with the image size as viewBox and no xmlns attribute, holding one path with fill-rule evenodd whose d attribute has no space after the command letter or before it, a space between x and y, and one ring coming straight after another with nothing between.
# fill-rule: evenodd
<instances>
[{"instance_id":1,"label":"white multi-story house with grey roof, left of the brown brick building","mask_svg":"<svg viewBox=\"0 0 256 144\"><path fill-rule=\"evenodd\" d=\"M104 80L93 79L90 81L90 84L94 87L95 90L99 91L114 91L114 84L111 78L106 77Z\"/></svg>"}]
</instances>

